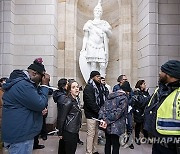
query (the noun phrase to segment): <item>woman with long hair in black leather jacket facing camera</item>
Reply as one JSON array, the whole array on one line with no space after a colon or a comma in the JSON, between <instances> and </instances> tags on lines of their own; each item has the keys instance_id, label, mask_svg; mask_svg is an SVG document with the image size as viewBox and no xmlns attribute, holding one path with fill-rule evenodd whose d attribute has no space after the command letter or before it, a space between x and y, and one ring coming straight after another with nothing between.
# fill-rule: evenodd
<instances>
[{"instance_id":1,"label":"woman with long hair in black leather jacket facing camera","mask_svg":"<svg viewBox=\"0 0 180 154\"><path fill-rule=\"evenodd\" d=\"M78 103L79 84L72 80L67 86L67 98L59 109L58 136L64 140L64 154L75 154L81 127L81 109Z\"/></svg>"}]
</instances>

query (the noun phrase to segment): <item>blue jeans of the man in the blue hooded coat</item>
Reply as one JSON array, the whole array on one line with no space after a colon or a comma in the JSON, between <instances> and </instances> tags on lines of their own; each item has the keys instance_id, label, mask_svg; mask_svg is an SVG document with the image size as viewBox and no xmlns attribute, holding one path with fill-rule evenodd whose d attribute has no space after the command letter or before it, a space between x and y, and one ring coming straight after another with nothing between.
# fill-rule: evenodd
<instances>
[{"instance_id":1,"label":"blue jeans of the man in the blue hooded coat","mask_svg":"<svg viewBox=\"0 0 180 154\"><path fill-rule=\"evenodd\" d=\"M33 143L34 139L12 144L4 142L4 146L9 154L32 154Z\"/></svg>"}]
</instances>

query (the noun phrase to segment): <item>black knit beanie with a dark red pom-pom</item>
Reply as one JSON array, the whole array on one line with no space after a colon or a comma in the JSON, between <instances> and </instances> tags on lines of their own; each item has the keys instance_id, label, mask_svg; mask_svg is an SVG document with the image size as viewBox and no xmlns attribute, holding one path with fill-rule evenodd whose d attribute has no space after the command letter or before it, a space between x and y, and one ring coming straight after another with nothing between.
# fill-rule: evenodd
<instances>
[{"instance_id":1,"label":"black knit beanie with a dark red pom-pom","mask_svg":"<svg viewBox=\"0 0 180 154\"><path fill-rule=\"evenodd\" d=\"M34 60L33 64L31 64L28 69L32 69L34 71L37 71L40 74L43 74L46 70L44 68L44 65L42 64L43 60L42 58L37 58Z\"/></svg>"}]
</instances>

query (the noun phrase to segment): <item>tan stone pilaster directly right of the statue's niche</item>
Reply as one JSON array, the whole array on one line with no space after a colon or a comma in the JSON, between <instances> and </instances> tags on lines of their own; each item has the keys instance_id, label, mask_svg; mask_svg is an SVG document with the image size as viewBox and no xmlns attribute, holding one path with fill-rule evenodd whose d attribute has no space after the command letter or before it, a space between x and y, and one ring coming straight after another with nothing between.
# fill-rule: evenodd
<instances>
[{"instance_id":1,"label":"tan stone pilaster directly right of the statue's niche","mask_svg":"<svg viewBox=\"0 0 180 154\"><path fill-rule=\"evenodd\" d=\"M125 74L134 86L137 80L137 5L133 0L122 0L119 6L119 75Z\"/></svg>"}]
</instances>

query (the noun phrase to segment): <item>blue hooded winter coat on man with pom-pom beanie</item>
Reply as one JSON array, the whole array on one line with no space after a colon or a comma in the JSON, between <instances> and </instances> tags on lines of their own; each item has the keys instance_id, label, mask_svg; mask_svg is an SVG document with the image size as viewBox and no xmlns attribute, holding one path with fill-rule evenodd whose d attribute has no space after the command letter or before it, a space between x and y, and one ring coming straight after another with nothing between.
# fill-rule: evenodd
<instances>
[{"instance_id":1,"label":"blue hooded winter coat on man with pom-pom beanie","mask_svg":"<svg viewBox=\"0 0 180 154\"><path fill-rule=\"evenodd\" d=\"M3 89L3 141L32 140L42 128L42 110L48 103L48 88L38 88L27 71L14 70Z\"/></svg>"}]
</instances>

